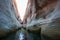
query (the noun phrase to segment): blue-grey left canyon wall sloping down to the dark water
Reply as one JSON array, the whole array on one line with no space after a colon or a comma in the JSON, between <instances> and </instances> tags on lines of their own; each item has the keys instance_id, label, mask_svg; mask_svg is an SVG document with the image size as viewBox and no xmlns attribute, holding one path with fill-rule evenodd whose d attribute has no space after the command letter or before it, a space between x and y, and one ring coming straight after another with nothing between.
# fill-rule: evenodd
<instances>
[{"instance_id":1,"label":"blue-grey left canyon wall sloping down to the dark water","mask_svg":"<svg viewBox=\"0 0 60 40\"><path fill-rule=\"evenodd\" d=\"M0 37L20 27L13 0L0 0Z\"/></svg>"}]
</instances>

